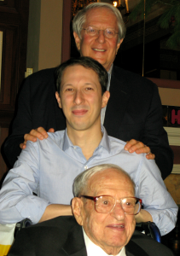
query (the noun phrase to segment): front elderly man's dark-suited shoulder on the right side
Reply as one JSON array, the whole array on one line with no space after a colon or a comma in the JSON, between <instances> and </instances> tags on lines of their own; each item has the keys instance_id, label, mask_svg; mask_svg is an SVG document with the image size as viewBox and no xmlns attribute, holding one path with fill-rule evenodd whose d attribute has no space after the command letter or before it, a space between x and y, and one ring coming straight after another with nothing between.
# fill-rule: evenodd
<instances>
[{"instance_id":1,"label":"front elderly man's dark-suited shoulder on the right side","mask_svg":"<svg viewBox=\"0 0 180 256\"><path fill-rule=\"evenodd\" d=\"M148 256L173 256L173 253L168 247L165 247L160 242L135 230L131 240L125 248L128 252L133 253L133 251L138 250L138 247L145 251ZM143 254L140 253L139 255Z\"/></svg>"}]
</instances>

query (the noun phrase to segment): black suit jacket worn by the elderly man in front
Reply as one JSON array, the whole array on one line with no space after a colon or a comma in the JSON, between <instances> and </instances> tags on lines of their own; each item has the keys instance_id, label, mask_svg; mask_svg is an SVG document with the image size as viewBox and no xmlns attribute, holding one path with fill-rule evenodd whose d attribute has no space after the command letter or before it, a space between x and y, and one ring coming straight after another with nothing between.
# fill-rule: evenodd
<instances>
[{"instance_id":1,"label":"black suit jacket worn by the elderly man in front","mask_svg":"<svg viewBox=\"0 0 180 256\"><path fill-rule=\"evenodd\" d=\"M125 246L126 256L172 256L171 250L135 231ZM82 227L62 216L20 230L9 256L87 256Z\"/></svg>"}]
</instances>

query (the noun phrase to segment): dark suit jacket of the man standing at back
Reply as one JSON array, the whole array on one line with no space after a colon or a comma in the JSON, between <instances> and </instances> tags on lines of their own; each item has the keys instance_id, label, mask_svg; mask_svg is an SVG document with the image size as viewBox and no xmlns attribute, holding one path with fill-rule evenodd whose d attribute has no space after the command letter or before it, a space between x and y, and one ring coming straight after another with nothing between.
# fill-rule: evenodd
<instances>
[{"instance_id":1,"label":"dark suit jacket of the man standing at back","mask_svg":"<svg viewBox=\"0 0 180 256\"><path fill-rule=\"evenodd\" d=\"M148 145L165 179L171 173L173 154L162 126L157 86L135 73L113 67L110 94L104 122L107 134L124 141L134 138ZM46 131L66 128L65 117L55 99L55 68L29 76L17 102L12 131L3 147L11 166L20 154L24 134L39 126Z\"/></svg>"}]
</instances>

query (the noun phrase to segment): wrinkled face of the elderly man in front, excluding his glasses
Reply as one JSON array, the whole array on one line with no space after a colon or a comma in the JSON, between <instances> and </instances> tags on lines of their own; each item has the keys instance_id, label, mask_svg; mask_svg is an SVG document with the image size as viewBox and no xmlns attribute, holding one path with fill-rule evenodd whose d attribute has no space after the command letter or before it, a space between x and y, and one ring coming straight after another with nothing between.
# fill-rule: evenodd
<instances>
[{"instance_id":1,"label":"wrinkled face of the elderly man in front, excluding his glasses","mask_svg":"<svg viewBox=\"0 0 180 256\"><path fill-rule=\"evenodd\" d=\"M129 177L116 169L97 172L90 177L86 195L112 195L116 200L133 197L134 188ZM96 212L95 202L84 198L73 199L73 212L78 224L90 240L107 254L116 255L124 247L135 230L134 215L126 215L120 203L112 212Z\"/></svg>"}]
</instances>

